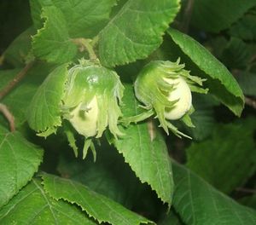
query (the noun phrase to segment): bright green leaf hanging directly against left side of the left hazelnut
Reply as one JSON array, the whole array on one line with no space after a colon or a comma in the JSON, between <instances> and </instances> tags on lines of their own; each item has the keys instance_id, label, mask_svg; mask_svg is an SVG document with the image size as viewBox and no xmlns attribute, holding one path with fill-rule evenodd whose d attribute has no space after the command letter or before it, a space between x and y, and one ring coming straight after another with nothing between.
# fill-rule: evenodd
<instances>
[{"instance_id":1,"label":"bright green leaf hanging directly against left side of the left hazelnut","mask_svg":"<svg viewBox=\"0 0 256 225\"><path fill-rule=\"evenodd\" d=\"M55 68L33 96L26 118L33 130L55 130L61 125L61 99L67 80L67 64Z\"/></svg>"}]
</instances>

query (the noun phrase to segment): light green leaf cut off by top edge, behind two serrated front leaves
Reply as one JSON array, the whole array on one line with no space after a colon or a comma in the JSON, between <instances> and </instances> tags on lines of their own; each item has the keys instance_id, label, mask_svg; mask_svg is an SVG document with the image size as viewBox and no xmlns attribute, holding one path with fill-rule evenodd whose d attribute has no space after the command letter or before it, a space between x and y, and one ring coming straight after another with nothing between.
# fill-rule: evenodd
<instances>
[{"instance_id":1,"label":"light green leaf cut off by top edge, behind two serrated front leaves","mask_svg":"<svg viewBox=\"0 0 256 225\"><path fill-rule=\"evenodd\" d=\"M67 30L72 38L93 38L109 20L109 14L116 0L30 0L32 20L40 27L41 8L55 6L60 9L67 22Z\"/></svg>"}]
</instances>

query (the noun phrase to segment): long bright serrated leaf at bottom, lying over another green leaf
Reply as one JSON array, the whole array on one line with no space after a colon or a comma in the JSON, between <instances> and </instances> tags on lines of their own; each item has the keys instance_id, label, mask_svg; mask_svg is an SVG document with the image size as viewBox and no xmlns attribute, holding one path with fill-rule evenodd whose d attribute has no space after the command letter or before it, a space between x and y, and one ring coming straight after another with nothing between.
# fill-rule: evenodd
<instances>
[{"instance_id":1,"label":"long bright serrated leaf at bottom, lying over another green leaf","mask_svg":"<svg viewBox=\"0 0 256 225\"><path fill-rule=\"evenodd\" d=\"M50 196L79 205L98 222L109 222L113 225L151 223L143 216L128 211L122 205L90 190L79 182L49 174L44 174L43 180L44 189Z\"/></svg>"}]
</instances>

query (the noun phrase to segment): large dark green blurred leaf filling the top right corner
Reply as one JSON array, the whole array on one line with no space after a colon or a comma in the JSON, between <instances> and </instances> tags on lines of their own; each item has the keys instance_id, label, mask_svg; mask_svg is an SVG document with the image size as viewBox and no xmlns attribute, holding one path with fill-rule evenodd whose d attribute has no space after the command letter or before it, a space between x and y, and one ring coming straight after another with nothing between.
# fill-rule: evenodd
<instances>
[{"instance_id":1,"label":"large dark green blurred leaf filling the top right corner","mask_svg":"<svg viewBox=\"0 0 256 225\"><path fill-rule=\"evenodd\" d=\"M201 30L220 32L255 5L254 0L195 0L191 20Z\"/></svg>"}]
</instances>

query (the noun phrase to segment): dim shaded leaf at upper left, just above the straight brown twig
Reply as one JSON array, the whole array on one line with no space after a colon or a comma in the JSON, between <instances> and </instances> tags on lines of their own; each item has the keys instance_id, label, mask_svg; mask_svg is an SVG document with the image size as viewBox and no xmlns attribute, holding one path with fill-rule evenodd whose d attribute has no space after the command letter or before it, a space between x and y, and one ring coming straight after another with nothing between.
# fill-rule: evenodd
<instances>
[{"instance_id":1,"label":"dim shaded leaf at upper left, just above the straight brown twig","mask_svg":"<svg viewBox=\"0 0 256 225\"><path fill-rule=\"evenodd\" d=\"M25 32L20 33L20 35L15 38L15 40L3 52L4 61L15 67L25 66L26 55L28 55L32 48L31 36L35 32L35 29L30 27L26 29Z\"/></svg>"}]
</instances>

